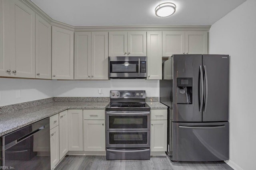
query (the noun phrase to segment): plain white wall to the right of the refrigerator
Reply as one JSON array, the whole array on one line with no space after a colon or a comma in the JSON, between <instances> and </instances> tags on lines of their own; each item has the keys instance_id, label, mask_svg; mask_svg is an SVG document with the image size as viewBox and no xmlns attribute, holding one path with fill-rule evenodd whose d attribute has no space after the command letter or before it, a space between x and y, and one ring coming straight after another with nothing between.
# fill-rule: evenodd
<instances>
[{"instance_id":1,"label":"plain white wall to the right of the refrigerator","mask_svg":"<svg viewBox=\"0 0 256 170\"><path fill-rule=\"evenodd\" d=\"M230 160L253 170L256 160L256 0L247 0L210 29L210 54L230 57Z\"/></svg>"}]
</instances>

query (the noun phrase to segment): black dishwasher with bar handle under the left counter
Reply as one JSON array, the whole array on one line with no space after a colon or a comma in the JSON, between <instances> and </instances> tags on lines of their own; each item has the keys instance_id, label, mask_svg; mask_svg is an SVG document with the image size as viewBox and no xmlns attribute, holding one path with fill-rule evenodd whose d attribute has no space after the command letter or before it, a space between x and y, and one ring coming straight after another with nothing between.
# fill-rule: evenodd
<instances>
[{"instance_id":1,"label":"black dishwasher with bar handle under the left counter","mask_svg":"<svg viewBox=\"0 0 256 170\"><path fill-rule=\"evenodd\" d=\"M37 121L1 138L1 167L50 170L50 118Z\"/></svg>"}]
</instances>

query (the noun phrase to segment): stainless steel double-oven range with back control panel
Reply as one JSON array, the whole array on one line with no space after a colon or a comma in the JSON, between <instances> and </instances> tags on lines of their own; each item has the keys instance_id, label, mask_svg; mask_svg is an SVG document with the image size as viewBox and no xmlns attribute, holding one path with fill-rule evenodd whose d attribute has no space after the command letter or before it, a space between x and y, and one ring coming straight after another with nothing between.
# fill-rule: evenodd
<instances>
[{"instance_id":1,"label":"stainless steel double-oven range with back control panel","mask_svg":"<svg viewBox=\"0 0 256 170\"><path fill-rule=\"evenodd\" d=\"M145 91L110 91L106 159L150 159L150 107Z\"/></svg>"}]
</instances>

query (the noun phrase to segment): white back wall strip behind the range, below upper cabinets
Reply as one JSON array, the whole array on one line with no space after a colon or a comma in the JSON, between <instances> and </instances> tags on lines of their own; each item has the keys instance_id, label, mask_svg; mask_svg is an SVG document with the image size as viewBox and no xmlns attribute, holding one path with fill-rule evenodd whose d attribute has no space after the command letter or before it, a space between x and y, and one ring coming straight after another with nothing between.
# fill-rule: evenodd
<instances>
[{"instance_id":1,"label":"white back wall strip behind the range, below upper cabinets","mask_svg":"<svg viewBox=\"0 0 256 170\"><path fill-rule=\"evenodd\" d=\"M103 94L98 94L98 88ZM110 90L146 90L146 96L159 97L159 80L54 80L56 97L109 97Z\"/></svg>"}]
</instances>

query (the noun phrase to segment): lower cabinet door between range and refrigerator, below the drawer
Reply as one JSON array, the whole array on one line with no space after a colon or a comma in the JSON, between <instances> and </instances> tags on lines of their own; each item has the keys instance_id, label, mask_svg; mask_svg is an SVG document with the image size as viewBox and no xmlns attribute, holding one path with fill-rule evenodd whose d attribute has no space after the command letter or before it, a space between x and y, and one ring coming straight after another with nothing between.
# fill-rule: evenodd
<instances>
[{"instance_id":1,"label":"lower cabinet door between range and refrigerator, below the drawer","mask_svg":"<svg viewBox=\"0 0 256 170\"><path fill-rule=\"evenodd\" d=\"M165 152L167 150L167 120L151 121L151 152Z\"/></svg>"}]
</instances>

